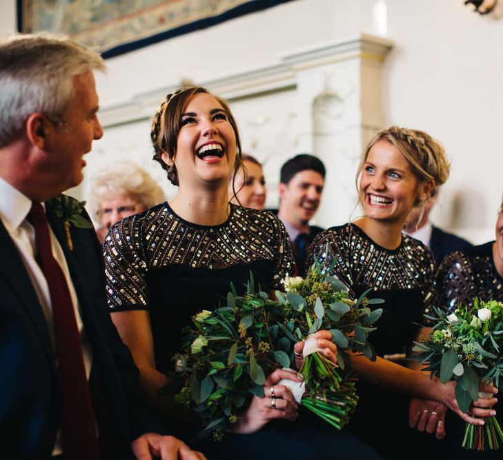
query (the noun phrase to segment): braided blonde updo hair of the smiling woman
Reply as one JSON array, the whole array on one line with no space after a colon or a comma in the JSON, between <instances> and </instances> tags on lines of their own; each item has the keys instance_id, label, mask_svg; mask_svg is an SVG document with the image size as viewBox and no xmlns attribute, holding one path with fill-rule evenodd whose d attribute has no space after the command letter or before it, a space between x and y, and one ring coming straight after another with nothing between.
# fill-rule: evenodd
<instances>
[{"instance_id":1,"label":"braided blonde updo hair of the smiling woman","mask_svg":"<svg viewBox=\"0 0 503 460\"><path fill-rule=\"evenodd\" d=\"M399 126L390 126L380 130L368 143L356 174L357 189L358 179L362 174L368 152L379 141L391 143L404 155L420 183L431 181L433 187L430 197L435 197L442 184L448 179L451 170L451 163L446 158L444 147L424 131L408 130ZM420 200L417 199L415 204L420 204Z\"/></svg>"}]
</instances>

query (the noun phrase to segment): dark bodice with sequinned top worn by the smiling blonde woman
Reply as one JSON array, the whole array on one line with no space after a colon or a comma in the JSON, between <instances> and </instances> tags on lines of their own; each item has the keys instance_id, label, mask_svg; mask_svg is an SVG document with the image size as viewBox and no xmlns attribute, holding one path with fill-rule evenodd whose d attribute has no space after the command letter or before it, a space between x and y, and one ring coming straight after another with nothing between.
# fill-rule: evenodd
<instances>
[{"instance_id":1,"label":"dark bodice with sequinned top worn by the smiling blonde woman","mask_svg":"<svg viewBox=\"0 0 503 460\"><path fill-rule=\"evenodd\" d=\"M396 250L382 248L359 227L347 223L317 236L311 246L313 255L358 297L367 289L369 297L385 300L384 314L371 334L378 354L404 352L422 323L423 313L433 303L435 262L431 250L420 241L402 235Z\"/></svg>"}]
</instances>

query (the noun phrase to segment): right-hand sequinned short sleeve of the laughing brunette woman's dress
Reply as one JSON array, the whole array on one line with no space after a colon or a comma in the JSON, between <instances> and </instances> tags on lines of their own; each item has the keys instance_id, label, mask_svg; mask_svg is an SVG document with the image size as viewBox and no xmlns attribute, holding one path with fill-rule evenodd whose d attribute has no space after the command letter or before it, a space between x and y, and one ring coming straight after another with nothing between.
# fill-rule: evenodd
<instances>
[{"instance_id":1,"label":"right-hand sequinned short sleeve of the laughing brunette woman's dress","mask_svg":"<svg viewBox=\"0 0 503 460\"><path fill-rule=\"evenodd\" d=\"M275 268L270 280L270 287L272 290L283 290L282 280L287 276L293 276L295 272L292 245L283 222L270 212L267 213L267 216L271 223L275 251Z\"/></svg>"}]
</instances>

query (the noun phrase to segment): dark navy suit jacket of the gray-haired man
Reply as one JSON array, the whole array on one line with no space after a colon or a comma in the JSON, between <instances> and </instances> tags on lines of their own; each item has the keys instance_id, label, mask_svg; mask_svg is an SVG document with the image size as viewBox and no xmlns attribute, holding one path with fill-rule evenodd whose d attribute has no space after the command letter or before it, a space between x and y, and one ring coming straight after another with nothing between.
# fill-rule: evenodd
<instances>
[{"instance_id":1,"label":"dark navy suit jacket of the gray-haired man","mask_svg":"<svg viewBox=\"0 0 503 460\"><path fill-rule=\"evenodd\" d=\"M95 231L72 226L70 251L62 221L49 206L47 216L65 253L92 347L92 374L101 399L99 409L95 407L100 438L113 446L117 458L128 458L132 439L162 427L139 388L130 352L110 320ZM60 426L55 351L37 294L1 222L0 254L0 458L46 459ZM97 403L94 394L93 403Z\"/></svg>"}]
</instances>

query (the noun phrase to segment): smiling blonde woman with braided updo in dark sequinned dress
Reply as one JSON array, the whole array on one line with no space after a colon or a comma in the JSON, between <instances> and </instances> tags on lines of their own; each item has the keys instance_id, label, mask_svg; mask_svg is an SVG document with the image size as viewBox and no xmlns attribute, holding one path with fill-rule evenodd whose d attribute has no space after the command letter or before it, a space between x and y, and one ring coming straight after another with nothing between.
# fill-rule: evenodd
<instances>
[{"instance_id":1,"label":"smiling blonde woman with braided updo in dark sequinned dress","mask_svg":"<svg viewBox=\"0 0 503 460\"><path fill-rule=\"evenodd\" d=\"M355 298L371 289L369 297L386 301L370 337L377 361L353 359L356 370L373 376L381 388L360 386L360 403L348 425L386 458L410 457L411 448L418 454L428 441L408 428L408 398L400 392L418 394L430 391L430 386L430 394L444 391L442 386L434 388L440 381L429 380L426 372L380 358L404 357L417 334L414 322L421 323L423 312L433 306L433 256L420 241L402 234L402 228L411 209L435 194L448 176L448 161L435 146L426 132L418 130L392 126L378 132L357 170L363 217L325 230L311 246L319 263L333 266L331 274L346 283ZM452 401L444 402L460 414ZM478 409L473 413L481 414Z\"/></svg>"}]
</instances>

